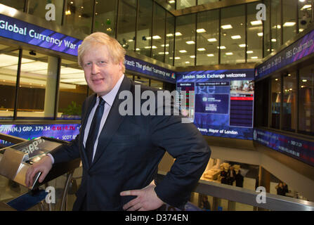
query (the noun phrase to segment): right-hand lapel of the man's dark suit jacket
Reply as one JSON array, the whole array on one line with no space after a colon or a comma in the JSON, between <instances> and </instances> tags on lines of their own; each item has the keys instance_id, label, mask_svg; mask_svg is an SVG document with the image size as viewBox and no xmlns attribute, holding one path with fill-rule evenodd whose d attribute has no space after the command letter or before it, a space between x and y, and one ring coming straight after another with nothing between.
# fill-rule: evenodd
<instances>
[{"instance_id":1,"label":"right-hand lapel of the man's dark suit jacket","mask_svg":"<svg viewBox=\"0 0 314 225\"><path fill-rule=\"evenodd\" d=\"M105 148L110 143L112 136L115 134L117 129L119 128L120 124L124 120L125 116L120 115L119 113L119 105L124 101L124 99L119 99L119 94L121 91L129 90L131 91L131 82L129 78L124 76L122 84L117 92L117 96L115 97L115 101L113 102L110 112L107 116L106 122L103 126L103 129L100 132L98 138L98 146L96 150L96 154L93 159L92 165L94 165L103 155ZM91 166L92 166L91 165Z\"/></svg>"}]
</instances>

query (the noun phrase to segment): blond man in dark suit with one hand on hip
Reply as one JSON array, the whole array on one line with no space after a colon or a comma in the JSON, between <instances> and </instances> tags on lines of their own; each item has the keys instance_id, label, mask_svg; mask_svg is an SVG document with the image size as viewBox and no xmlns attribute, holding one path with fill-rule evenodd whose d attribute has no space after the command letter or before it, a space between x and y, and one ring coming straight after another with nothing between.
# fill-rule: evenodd
<instances>
[{"instance_id":1,"label":"blond man in dark suit with one hand on hip","mask_svg":"<svg viewBox=\"0 0 314 225\"><path fill-rule=\"evenodd\" d=\"M81 158L83 176L73 210L155 210L164 203L183 209L211 150L194 124L183 123L178 115L157 115L156 99L150 99L155 103L148 107L150 115L138 115L134 102L143 103L143 97L124 76L124 54L107 34L96 32L84 39L78 60L96 94L84 101L77 138L34 163L26 184L32 184L37 172L42 172L43 181L53 163ZM144 91L157 96L157 90L140 86L140 94ZM134 107L128 115L125 106ZM165 150L176 161L155 184Z\"/></svg>"}]
</instances>

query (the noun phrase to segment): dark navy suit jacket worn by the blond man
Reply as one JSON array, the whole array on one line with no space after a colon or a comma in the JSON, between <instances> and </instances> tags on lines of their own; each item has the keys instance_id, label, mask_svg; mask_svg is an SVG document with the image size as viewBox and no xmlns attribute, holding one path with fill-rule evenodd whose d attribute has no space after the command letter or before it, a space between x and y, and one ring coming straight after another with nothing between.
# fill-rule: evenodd
<instances>
[{"instance_id":1,"label":"dark navy suit jacket worn by the blond man","mask_svg":"<svg viewBox=\"0 0 314 225\"><path fill-rule=\"evenodd\" d=\"M148 89L140 86L142 93ZM119 93L124 90L135 96L135 84L126 76L100 133L91 165L86 158L83 135L96 95L84 101L77 138L70 145L51 152L55 163L81 158L83 176L73 210L79 210L85 196L87 210L122 210L125 203L136 197L122 197L119 193L148 186L157 173L165 150L176 161L155 191L165 203L182 207L202 176L211 150L194 124L181 123L181 116L120 115L119 105L125 100L119 99ZM135 97L138 101L138 96ZM129 99L133 106L134 101L135 98Z\"/></svg>"}]
</instances>

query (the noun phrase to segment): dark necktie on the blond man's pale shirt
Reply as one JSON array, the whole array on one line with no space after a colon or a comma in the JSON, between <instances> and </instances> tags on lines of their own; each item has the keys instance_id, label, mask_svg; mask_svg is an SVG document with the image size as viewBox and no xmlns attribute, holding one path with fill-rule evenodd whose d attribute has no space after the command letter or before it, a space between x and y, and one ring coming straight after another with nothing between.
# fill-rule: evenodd
<instances>
[{"instance_id":1,"label":"dark necktie on the blond man's pale shirt","mask_svg":"<svg viewBox=\"0 0 314 225\"><path fill-rule=\"evenodd\" d=\"M98 131L100 127L101 117L103 117L103 110L105 106L105 101L103 98L99 97L99 103L95 114L93 115L93 121L91 122L91 127L89 128L89 136L87 136L85 150L87 153L87 158L89 160L89 165L91 165L93 159L93 147L95 146L95 141L98 136Z\"/></svg>"}]
</instances>

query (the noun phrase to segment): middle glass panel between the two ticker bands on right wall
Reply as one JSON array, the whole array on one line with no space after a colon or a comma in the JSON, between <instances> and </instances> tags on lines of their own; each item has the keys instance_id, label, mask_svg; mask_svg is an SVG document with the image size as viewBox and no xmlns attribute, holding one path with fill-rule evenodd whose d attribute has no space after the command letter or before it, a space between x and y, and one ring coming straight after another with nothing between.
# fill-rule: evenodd
<instances>
[{"instance_id":1,"label":"middle glass panel between the two ticker bands on right wall","mask_svg":"<svg viewBox=\"0 0 314 225\"><path fill-rule=\"evenodd\" d=\"M282 129L296 130L296 73L290 72L283 79Z\"/></svg>"}]
</instances>

